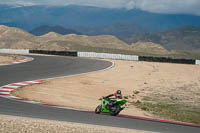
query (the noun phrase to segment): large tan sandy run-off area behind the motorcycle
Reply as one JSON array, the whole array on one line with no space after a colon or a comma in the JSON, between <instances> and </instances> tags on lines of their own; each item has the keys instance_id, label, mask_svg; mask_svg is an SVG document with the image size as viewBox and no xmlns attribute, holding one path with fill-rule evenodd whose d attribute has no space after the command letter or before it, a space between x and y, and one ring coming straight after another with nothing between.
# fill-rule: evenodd
<instances>
[{"instance_id":1,"label":"large tan sandy run-off area behind the motorcycle","mask_svg":"<svg viewBox=\"0 0 200 133\"><path fill-rule=\"evenodd\" d=\"M200 107L200 66L115 60L112 69L48 80L14 95L59 106L93 111L102 96L122 90L128 101L177 103ZM135 93L136 91L137 94ZM122 114L155 117L132 104Z\"/></svg>"}]
</instances>

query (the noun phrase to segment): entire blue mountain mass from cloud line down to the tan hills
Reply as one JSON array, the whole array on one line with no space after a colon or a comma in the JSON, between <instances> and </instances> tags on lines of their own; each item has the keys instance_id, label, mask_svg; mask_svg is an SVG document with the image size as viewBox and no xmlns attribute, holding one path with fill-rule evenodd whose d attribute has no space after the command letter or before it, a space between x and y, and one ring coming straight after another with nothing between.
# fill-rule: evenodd
<instances>
[{"instance_id":1,"label":"entire blue mountain mass from cloud line down to the tan hills","mask_svg":"<svg viewBox=\"0 0 200 133\"><path fill-rule=\"evenodd\" d=\"M129 45L154 42L169 50L200 49L200 16L189 14L158 14L138 9L77 5L0 5L0 24L28 31L30 38L49 32L59 35L114 35ZM26 41L27 38L24 39ZM15 40L12 38L9 41Z\"/></svg>"}]
</instances>

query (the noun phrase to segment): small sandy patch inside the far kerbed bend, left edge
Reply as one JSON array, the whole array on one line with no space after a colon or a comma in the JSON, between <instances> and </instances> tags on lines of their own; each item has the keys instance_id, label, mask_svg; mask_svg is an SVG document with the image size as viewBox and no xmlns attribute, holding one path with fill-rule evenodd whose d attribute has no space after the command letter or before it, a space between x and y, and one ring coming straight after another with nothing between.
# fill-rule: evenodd
<instances>
[{"instance_id":1,"label":"small sandy patch inside the far kerbed bend, left edge","mask_svg":"<svg viewBox=\"0 0 200 133\"><path fill-rule=\"evenodd\" d=\"M16 55L0 55L0 65L10 64L21 59L24 59L24 57Z\"/></svg>"}]
</instances>

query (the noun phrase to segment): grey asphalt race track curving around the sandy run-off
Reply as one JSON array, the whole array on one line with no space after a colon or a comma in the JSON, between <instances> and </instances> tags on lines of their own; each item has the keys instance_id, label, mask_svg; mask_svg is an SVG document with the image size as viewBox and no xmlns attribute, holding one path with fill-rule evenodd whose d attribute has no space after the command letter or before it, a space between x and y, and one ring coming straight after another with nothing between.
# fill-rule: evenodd
<instances>
[{"instance_id":1,"label":"grey asphalt race track curving around the sandy run-off","mask_svg":"<svg viewBox=\"0 0 200 133\"><path fill-rule=\"evenodd\" d=\"M91 72L104 69L112 65L111 62L78 57L33 56L33 58L35 60L32 62L0 66L0 86L28 80ZM162 133L200 133L200 127L134 118L114 117L109 115L96 115L93 112L82 112L70 109L41 106L9 100L2 97L0 97L0 114Z\"/></svg>"}]
</instances>

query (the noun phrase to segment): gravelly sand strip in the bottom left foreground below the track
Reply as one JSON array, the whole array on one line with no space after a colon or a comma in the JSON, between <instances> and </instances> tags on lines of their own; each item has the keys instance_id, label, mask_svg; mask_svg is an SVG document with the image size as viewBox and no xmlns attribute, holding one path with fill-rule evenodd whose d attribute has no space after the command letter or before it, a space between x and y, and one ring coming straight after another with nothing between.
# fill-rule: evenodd
<instances>
[{"instance_id":1,"label":"gravelly sand strip in the bottom left foreground below the track","mask_svg":"<svg viewBox=\"0 0 200 133\"><path fill-rule=\"evenodd\" d=\"M0 115L0 133L150 133L150 132Z\"/></svg>"}]
</instances>

